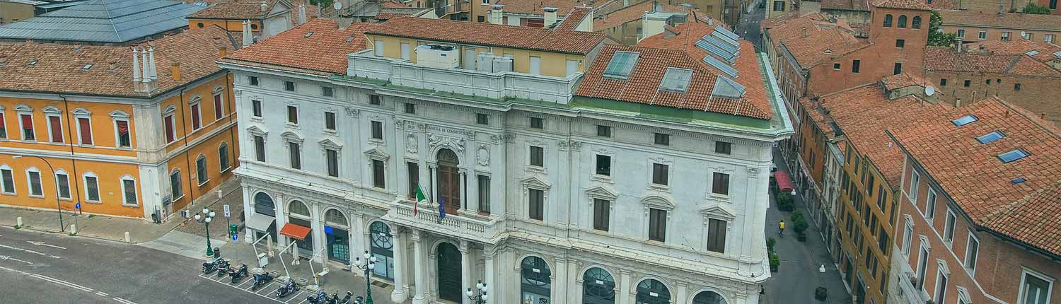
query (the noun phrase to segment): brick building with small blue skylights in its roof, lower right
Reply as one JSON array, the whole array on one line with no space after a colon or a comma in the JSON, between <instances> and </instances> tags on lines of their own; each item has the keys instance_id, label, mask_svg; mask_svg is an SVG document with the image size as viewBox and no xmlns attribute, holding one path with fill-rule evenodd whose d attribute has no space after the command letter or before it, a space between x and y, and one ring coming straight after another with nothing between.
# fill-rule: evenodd
<instances>
[{"instance_id":1,"label":"brick building with small blue skylights in its roof, lower right","mask_svg":"<svg viewBox=\"0 0 1061 304\"><path fill-rule=\"evenodd\" d=\"M890 130L904 151L888 303L1061 299L1061 132L998 97Z\"/></svg>"}]
</instances>

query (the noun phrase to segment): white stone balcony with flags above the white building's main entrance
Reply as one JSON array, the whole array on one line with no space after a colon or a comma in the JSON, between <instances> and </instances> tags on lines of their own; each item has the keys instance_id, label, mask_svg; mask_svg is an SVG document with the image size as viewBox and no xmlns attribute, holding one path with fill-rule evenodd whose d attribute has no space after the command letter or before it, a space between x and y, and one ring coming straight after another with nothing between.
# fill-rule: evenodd
<instances>
[{"instance_id":1,"label":"white stone balcony with flags above the white building's main entrance","mask_svg":"<svg viewBox=\"0 0 1061 304\"><path fill-rule=\"evenodd\" d=\"M383 220L483 244L495 244L504 231L497 218L485 220L459 214L446 214L446 217L439 220L438 207L425 202L421 202L419 211L414 214L413 201L404 199L392 204Z\"/></svg>"}]
</instances>

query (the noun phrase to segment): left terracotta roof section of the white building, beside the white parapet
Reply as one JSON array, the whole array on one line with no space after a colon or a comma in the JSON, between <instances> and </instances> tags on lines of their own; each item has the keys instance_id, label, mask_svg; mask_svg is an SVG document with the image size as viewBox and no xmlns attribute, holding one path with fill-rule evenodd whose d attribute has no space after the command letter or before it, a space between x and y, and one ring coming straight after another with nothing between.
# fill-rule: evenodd
<instances>
[{"instance_id":1,"label":"left terracotta roof section of the white building, beside the white parapet","mask_svg":"<svg viewBox=\"0 0 1061 304\"><path fill-rule=\"evenodd\" d=\"M265 41L229 54L222 62L284 67L289 71L318 75L346 74L346 54L364 50L364 31L379 23L352 23L344 30L329 19L314 19ZM306 34L313 35L306 37ZM352 40L349 38L353 38ZM298 50L292 52L292 50ZM254 65L258 64L258 65Z\"/></svg>"}]
</instances>

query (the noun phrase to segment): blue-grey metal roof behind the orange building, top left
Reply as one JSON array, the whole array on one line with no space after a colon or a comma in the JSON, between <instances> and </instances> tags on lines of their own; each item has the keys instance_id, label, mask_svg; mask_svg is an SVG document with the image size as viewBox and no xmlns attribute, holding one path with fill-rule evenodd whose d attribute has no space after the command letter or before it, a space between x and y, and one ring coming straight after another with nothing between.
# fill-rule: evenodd
<instances>
[{"instance_id":1,"label":"blue-grey metal roof behind the orange building, top left","mask_svg":"<svg viewBox=\"0 0 1061 304\"><path fill-rule=\"evenodd\" d=\"M167 0L89 0L0 26L0 38L121 43L188 25L205 7Z\"/></svg>"}]
</instances>

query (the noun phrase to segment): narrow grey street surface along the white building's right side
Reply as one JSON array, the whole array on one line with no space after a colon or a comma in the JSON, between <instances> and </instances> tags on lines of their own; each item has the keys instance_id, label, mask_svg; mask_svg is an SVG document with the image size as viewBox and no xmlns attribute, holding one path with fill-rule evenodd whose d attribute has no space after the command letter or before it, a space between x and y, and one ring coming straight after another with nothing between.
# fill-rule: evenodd
<instances>
[{"instance_id":1,"label":"narrow grey street surface along the white building's right side","mask_svg":"<svg viewBox=\"0 0 1061 304\"><path fill-rule=\"evenodd\" d=\"M781 155L775 151L775 163L779 171L788 172ZM802 200L794 197L796 210L806 213ZM851 303L851 294L843 287L840 273L835 264L829 257L825 250L828 246L818 233L818 227L813 220L808 220L810 228L806 233L806 242L801 243L796 239L796 232L790 231L784 237L778 235L778 221L784 219L786 223L792 223L792 214L778 210L773 194L770 194L770 209L766 211L766 237L777 239L775 250L781 258L778 272L766 282L766 297L762 303ZM825 266L825 273L818 272L819 267ZM827 301L814 299L814 290L817 287L825 287L829 291Z\"/></svg>"}]
</instances>

